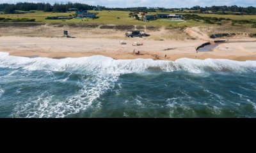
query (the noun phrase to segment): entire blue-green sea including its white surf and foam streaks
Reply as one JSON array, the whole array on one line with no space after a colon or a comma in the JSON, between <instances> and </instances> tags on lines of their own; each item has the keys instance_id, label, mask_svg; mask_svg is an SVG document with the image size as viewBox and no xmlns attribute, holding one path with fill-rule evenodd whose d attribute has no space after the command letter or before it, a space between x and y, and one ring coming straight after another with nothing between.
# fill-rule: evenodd
<instances>
[{"instance_id":1,"label":"entire blue-green sea including its white surf and foam streaks","mask_svg":"<svg viewBox=\"0 0 256 153\"><path fill-rule=\"evenodd\" d=\"M0 117L256 117L256 61L0 52Z\"/></svg>"}]
</instances>

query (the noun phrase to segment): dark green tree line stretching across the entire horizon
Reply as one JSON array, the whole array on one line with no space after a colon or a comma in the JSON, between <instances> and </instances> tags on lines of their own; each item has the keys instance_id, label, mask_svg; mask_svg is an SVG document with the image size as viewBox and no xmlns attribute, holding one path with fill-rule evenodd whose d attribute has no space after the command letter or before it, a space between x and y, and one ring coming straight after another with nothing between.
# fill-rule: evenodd
<instances>
[{"instance_id":1,"label":"dark green tree line stretching across the entire horizon","mask_svg":"<svg viewBox=\"0 0 256 153\"><path fill-rule=\"evenodd\" d=\"M172 11L177 9L166 9L166 8L147 8L147 7L137 7L137 8L105 8L104 6L91 6L88 4L81 3L65 3L59 4L55 3L53 5L49 3L16 3L16 4L0 4L0 10L4 10L5 13L14 13L15 10L30 11L30 10L40 10L40 11L54 11L54 12L66 12L68 8L77 8L78 10L93 10L94 8L100 8L100 10L120 10L120 11ZM192 8L182 8L178 10L193 10L193 11L212 11L212 12L241 12L255 14L256 8L253 6L241 7L241 6L211 6L211 7L200 7L194 6Z\"/></svg>"}]
</instances>

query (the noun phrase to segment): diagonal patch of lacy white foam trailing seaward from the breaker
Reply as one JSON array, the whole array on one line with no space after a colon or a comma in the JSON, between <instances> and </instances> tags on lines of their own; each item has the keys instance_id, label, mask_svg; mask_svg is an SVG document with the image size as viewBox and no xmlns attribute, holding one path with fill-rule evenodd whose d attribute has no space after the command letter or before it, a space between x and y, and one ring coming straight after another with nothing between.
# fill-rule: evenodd
<instances>
[{"instance_id":1,"label":"diagonal patch of lacy white foam trailing seaward from the breaker","mask_svg":"<svg viewBox=\"0 0 256 153\"><path fill-rule=\"evenodd\" d=\"M13 117L66 117L79 113L92 106L100 95L113 89L117 76L97 75L84 80L83 87L74 96L68 97L65 101L54 98L53 95L45 92L36 99L28 99L25 103L20 103L15 108ZM100 106L97 101L97 106Z\"/></svg>"}]
</instances>

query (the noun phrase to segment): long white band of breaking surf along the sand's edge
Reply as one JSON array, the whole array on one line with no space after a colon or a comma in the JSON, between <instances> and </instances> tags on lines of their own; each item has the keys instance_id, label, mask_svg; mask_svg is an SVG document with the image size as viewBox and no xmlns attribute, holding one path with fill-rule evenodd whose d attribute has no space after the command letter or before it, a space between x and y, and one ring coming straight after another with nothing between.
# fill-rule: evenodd
<instances>
[{"instance_id":1,"label":"long white band of breaking surf along the sand's edge","mask_svg":"<svg viewBox=\"0 0 256 153\"><path fill-rule=\"evenodd\" d=\"M256 71L256 61L231 61L227 59L178 59L177 61L154 61L152 59L114 60L100 55L81 58L49 59L15 57L0 52L0 67L23 68L51 71L90 71L96 73L136 73L148 69L162 71L189 71L201 73L204 71Z\"/></svg>"}]
</instances>

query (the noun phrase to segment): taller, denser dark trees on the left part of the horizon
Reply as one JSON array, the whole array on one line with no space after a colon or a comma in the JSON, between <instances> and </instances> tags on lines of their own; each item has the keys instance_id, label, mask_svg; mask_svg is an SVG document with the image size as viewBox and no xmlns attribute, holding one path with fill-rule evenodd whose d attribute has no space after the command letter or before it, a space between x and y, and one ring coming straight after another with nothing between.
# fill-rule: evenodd
<instances>
[{"instance_id":1,"label":"taller, denser dark trees on the left part of the horizon","mask_svg":"<svg viewBox=\"0 0 256 153\"><path fill-rule=\"evenodd\" d=\"M81 3L67 3L53 5L49 3L17 3L17 4L0 4L0 10L4 10L4 13L15 13L15 10L21 11L53 11L53 12L66 12L69 8L77 8L78 10L93 10L97 6L91 6ZM100 6L101 9L104 7Z\"/></svg>"}]
</instances>

